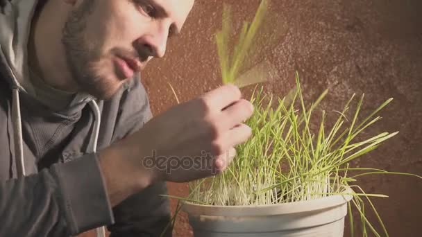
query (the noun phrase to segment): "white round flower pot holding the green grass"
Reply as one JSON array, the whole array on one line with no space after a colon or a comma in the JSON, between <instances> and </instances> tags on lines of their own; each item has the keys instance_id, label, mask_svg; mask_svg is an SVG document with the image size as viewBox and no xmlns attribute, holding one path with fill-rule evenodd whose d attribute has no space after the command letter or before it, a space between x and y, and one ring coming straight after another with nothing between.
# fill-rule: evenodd
<instances>
[{"instance_id":1,"label":"white round flower pot holding the green grass","mask_svg":"<svg viewBox=\"0 0 422 237\"><path fill-rule=\"evenodd\" d=\"M244 207L185 202L183 210L197 237L340 237L344 233L347 203L352 198L332 195L304 202Z\"/></svg>"}]
</instances>

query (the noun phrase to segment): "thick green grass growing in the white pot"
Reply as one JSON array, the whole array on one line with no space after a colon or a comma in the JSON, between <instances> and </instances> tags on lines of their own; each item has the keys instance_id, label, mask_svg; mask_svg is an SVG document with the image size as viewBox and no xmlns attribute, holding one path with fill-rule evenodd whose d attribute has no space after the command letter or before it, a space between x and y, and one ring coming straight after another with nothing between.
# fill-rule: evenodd
<instances>
[{"instance_id":1,"label":"thick green grass growing in the white pot","mask_svg":"<svg viewBox=\"0 0 422 237\"><path fill-rule=\"evenodd\" d=\"M363 236L388 236L371 198L387 198L386 195L365 193L357 184L364 175L394 173L376 168L357 168L351 161L373 152L398 132L382 132L366 139L360 134L380 121L377 114L392 99L382 103L371 114L361 114L364 96L351 96L338 113L330 128L326 125L327 113L317 112L319 103L326 96L324 91L314 103L306 105L296 73L296 88L285 98L264 94L262 87L255 89L251 101L255 106L253 116L246 121L253 136L237 146L237 156L221 175L189 183L186 202L219 206L268 205L324 198L330 195L353 195L349 204L351 227L354 220L351 209L360 213ZM354 100L354 101L353 101ZM354 103L353 103L354 102ZM355 106L351 106L355 104ZM346 114L352 114L348 119ZM331 119L331 118L330 118ZM312 123L319 121L317 128ZM314 128L314 129L312 129ZM349 173L353 172L353 175ZM350 187L353 193L346 193ZM375 213L382 234L366 218L369 204ZM351 228L354 234L353 228Z\"/></svg>"}]
</instances>

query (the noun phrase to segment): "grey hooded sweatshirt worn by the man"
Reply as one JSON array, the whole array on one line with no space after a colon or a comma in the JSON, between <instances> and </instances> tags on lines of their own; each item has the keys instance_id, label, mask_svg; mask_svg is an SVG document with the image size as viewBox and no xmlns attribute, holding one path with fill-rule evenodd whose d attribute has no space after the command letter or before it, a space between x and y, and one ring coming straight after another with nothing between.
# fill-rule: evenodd
<instances>
[{"instance_id":1,"label":"grey hooded sweatshirt worn by the man","mask_svg":"<svg viewBox=\"0 0 422 237\"><path fill-rule=\"evenodd\" d=\"M151 119L140 78L110 100L70 94L64 109L52 109L26 61L36 3L0 0L0 236L72 236L101 226L112 237L160 236L170 218L165 184L112 208L97 161L96 150Z\"/></svg>"}]
</instances>

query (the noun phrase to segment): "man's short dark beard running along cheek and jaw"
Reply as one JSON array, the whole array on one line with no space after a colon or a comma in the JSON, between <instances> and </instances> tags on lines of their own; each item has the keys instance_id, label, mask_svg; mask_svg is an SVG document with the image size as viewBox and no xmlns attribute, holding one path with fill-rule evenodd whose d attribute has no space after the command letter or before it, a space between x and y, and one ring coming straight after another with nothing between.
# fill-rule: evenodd
<instances>
[{"instance_id":1,"label":"man's short dark beard running along cheek and jaw","mask_svg":"<svg viewBox=\"0 0 422 237\"><path fill-rule=\"evenodd\" d=\"M79 89L96 98L107 99L115 94L110 85L112 82L104 76L99 76L96 73L99 71L98 68L94 67L101 59L101 44L99 42L87 44L84 38L87 17L92 14L95 2L85 0L69 14L63 28L62 43L65 46L67 67Z\"/></svg>"}]
</instances>

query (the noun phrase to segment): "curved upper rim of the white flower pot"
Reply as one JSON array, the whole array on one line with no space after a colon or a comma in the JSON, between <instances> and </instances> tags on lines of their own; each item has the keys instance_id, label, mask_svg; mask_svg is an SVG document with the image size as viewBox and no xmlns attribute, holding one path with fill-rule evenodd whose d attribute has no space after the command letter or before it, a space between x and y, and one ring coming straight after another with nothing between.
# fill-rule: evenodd
<instances>
[{"instance_id":1,"label":"curved upper rim of the white flower pot","mask_svg":"<svg viewBox=\"0 0 422 237\"><path fill-rule=\"evenodd\" d=\"M354 192L350 187L346 186L344 193ZM331 209L346 204L352 198L353 195L351 194L337 194L307 201L248 206L212 206L183 201L182 209L191 216L275 216Z\"/></svg>"}]
</instances>

